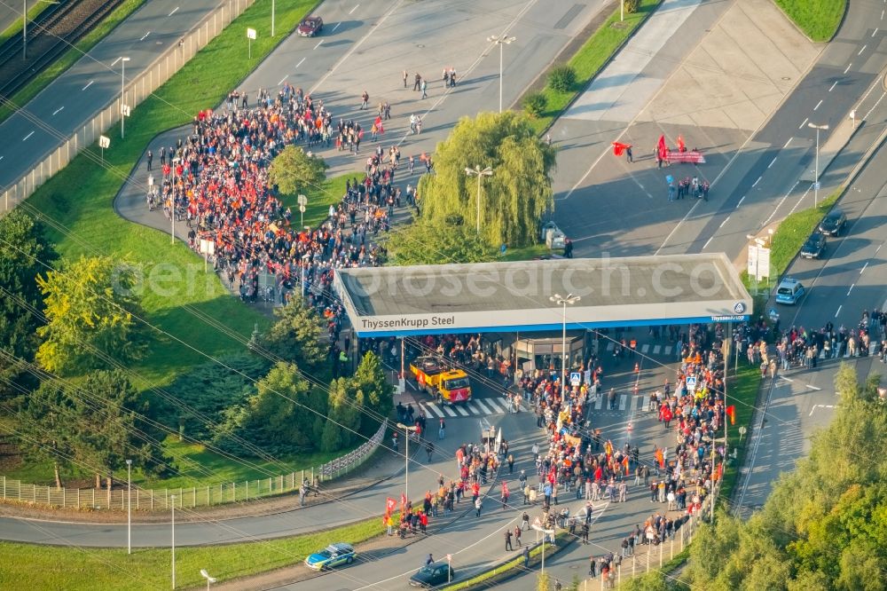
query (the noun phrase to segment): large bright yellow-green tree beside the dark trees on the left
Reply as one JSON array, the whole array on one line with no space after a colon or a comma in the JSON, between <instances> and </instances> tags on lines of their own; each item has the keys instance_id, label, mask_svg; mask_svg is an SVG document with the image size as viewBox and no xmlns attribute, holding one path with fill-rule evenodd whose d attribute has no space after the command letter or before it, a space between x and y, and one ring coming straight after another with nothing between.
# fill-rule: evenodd
<instances>
[{"instance_id":1,"label":"large bright yellow-green tree beside the dark trees on the left","mask_svg":"<svg viewBox=\"0 0 887 591\"><path fill-rule=\"evenodd\" d=\"M134 318L142 314L136 283L133 268L109 256L81 257L38 276L48 319L37 329L45 339L36 354L40 364L53 373L80 374L106 366L104 356L141 358L145 333Z\"/></svg>"}]
</instances>

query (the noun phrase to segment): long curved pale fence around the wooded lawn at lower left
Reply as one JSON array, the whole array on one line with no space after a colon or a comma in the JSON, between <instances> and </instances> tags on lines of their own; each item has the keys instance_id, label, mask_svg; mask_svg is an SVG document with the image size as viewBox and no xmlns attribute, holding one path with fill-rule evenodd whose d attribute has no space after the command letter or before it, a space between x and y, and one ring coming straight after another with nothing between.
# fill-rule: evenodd
<instances>
[{"instance_id":1,"label":"long curved pale fence around the wooded lawn at lower left","mask_svg":"<svg viewBox=\"0 0 887 591\"><path fill-rule=\"evenodd\" d=\"M299 472L280 474L259 480L231 482L219 485L192 486L191 488L175 489L141 489L131 491L132 508L142 511L168 510L172 498L176 498L177 508L209 507L224 503L245 502L276 494L293 493L298 490L306 478L320 482L342 477L356 469L376 451L385 436L388 421L382 422L375 435L353 452L340 458ZM28 485L19 480L0 477L0 493L4 500L16 500L27 503L51 505L61 508L92 508L126 510L127 489L68 489L54 486Z\"/></svg>"}]
</instances>

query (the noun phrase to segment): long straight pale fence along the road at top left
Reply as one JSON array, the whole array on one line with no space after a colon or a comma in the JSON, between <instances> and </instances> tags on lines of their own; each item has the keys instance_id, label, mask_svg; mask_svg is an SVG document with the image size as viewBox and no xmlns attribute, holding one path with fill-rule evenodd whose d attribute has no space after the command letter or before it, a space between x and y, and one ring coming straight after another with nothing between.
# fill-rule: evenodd
<instances>
[{"instance_id":1,"label":"long straight pale fence along the road at top left","mask_svg":"<svg viewBox=\"0 0 887 591\"><path fill-rule=\"evenodd\" d=\"M43 185L50 177L67 166L68 162L82 150L91 146L114 123L120 122L122 106L130 106L134 109L153 91L160 88L169 78L176 74L188 60L219 35L232 20L239 17L255 0L225 0L219 4L215 12L208 16L191 31L186 33L181 41L165 51L154 60L151 67L130 81L124 88L122 95L114 98L108 105L94 114L92 119L86 122L82 128L75 131L69 138L62 140L60 146L45 154L43 160L35 165L18 181L9 185L4 190L4 212L15 207L21 201L27 199L36 189Z\"/></svg>"}]
</instances>

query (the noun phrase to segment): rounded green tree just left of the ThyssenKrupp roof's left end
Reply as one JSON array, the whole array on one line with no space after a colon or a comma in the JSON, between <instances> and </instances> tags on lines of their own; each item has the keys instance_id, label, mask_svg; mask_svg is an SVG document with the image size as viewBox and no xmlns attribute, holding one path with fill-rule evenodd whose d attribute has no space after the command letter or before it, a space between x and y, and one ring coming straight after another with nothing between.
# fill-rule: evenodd
<instances>
[{"instance_id":1,"label":"rounded green tree just left of the ThyssenKrupp roof's left end","mask_svg":"<svg viewBox=\"0 0 887 591\"><path fill-rule=\"evenodd\" d=\"M301 298L274 309L278 321L271 325L262 339L263 349L280 359L293 361L305 371L314 372L326 359L320 340L324 323L318 313Z\"/></svg>"}]
</instances>

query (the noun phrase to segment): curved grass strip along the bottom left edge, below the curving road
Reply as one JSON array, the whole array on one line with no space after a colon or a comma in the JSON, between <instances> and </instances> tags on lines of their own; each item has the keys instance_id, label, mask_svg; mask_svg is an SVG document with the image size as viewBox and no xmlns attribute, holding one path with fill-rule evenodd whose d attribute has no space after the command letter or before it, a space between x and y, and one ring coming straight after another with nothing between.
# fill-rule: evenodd
<instances>
[{"instance_id":1,"label":"curved grass strip along the bottom left edge, below the curving road","mask_svg":"<svg viewBox=\"0 0 887 591\"><path fill-rule=\"evenodd\" d=\"M179 588L202 587L200 569L219 581L271 571L304 560L327 545L348 540L357 544L381 534L381 519L373 517L326 532L292 538L212 547L176 548L176 584ZM68 589L169 588L169 548L56 547L0 542L0 583L4 588ZM321 585L321 587L323 587Z\"/></svg>"}]
</instances>

